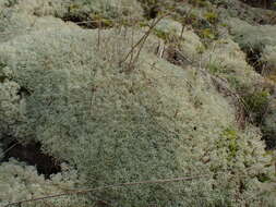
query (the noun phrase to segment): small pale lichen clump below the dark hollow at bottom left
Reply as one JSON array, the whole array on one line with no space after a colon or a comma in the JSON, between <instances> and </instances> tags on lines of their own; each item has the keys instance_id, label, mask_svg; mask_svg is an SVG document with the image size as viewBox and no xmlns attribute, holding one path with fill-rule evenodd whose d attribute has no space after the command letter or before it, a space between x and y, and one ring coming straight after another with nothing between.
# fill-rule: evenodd
<instances>
[{"instance_id":1,"label":"small pale lichen clump below the dark hollow at bottom left","mask_svg":"<svg viewBox=\"0 0 276 207\"><path fill-rule=\"evenodd\" d=\"M22 199L32 199L33 197L49 194L64 193L65 190L74 188L79 182L79 174L75 170L70 170L63 165L63 172L55 174L50 180L46 180L44 175L39 175L35 167L10 159L9 162L0 165L0 205L8 205L11 202ZM87 202L80 196L62 197L58 200L44 200L22 204L22 206L45 207L48 205L57 206L74 206Z\"/></svg>"}]
</instances>

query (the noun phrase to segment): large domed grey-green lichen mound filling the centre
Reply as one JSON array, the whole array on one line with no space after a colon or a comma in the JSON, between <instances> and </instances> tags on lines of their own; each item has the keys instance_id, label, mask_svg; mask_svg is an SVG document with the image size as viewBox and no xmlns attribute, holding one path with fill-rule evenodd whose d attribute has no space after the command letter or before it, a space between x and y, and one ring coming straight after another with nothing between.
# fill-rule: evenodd
<instances>
[{"instance_id":1,"label":"large domed grey-green lichen mound filling the centre","mask_svg":"<svg viewBox=\"0 0 276 207\"><path fill-rule=\"evenodd\" d=\"M255 183L259 173L268 173L269 158L263 157L259 134L249 127L240 135L229 160L229 145L217 148L217 139L229 125L238 131L235 108L211 78L156 58L151 38L133 71L121 72L129 66L119 63L131 37L122 37L123 31L101 33L99 48L97 32L72 27L1 44L9 78L28 90L14 135L41 142L45 151L75 166L87 186L211 175L184 184L101 192L116 206L239 204L236 179L247 175L244 182ZM229 170L241 176L232 180ZM254 191L245 187L239 196L245 202Z\"/></svg>"}]
</instances>

